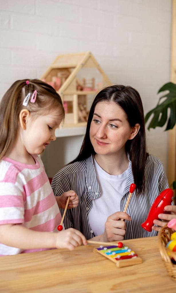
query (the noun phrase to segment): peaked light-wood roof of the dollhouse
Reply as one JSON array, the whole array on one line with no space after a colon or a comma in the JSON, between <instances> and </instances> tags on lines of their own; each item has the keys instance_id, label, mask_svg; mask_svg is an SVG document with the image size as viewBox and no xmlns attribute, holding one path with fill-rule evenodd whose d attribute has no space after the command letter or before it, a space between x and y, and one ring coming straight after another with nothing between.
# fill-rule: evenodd
<instances>
[{"instance_id":1,"label":"peaked light-wood roof of the dollhouse","mask_svg":"<svg viewBox=\"0 0 176 293\"><path fill-rule=\"evenodd\" d=\"M59 93L64 94L64 92L71 87L71 84L76 81L76 75L82 68L97 68L102 75L102 84L111 84L110 80L90 51L58 55L49 68L45 71L45 73L41 76L41 79L45 79L47 76L49 76L49 73L54 69L67 71L69 76L59 89Z\"/></svg>"}]
</instances>

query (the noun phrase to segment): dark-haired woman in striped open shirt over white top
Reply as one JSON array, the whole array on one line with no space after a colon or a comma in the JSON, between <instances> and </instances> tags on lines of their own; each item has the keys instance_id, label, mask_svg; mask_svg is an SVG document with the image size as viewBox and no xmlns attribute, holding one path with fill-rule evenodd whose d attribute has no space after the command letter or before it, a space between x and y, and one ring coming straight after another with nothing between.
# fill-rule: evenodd
<instances>
[{"instance_id":1,"label":"dark-haired woman in striped open shirt over white top","mask_svg":"<svg viewBox=\"0 0 176 293\"><path fill-rule=\"evenodd\" d=\"M136 184L127 213L131 183ZM77 158L53 178L55 196L74 190L78 207L66 212L65 228L87 239L117 241L157 235L165 223L155 220L152 232L141 227L168 180L162 162L146 152L143 105L131 86L104 88L90 108L86 134ZM175 206L168 206L170 220ZM170 212L173 214L171 215ZM121 221L121 219L125 221Z\"/></svg>"}]
</instances>

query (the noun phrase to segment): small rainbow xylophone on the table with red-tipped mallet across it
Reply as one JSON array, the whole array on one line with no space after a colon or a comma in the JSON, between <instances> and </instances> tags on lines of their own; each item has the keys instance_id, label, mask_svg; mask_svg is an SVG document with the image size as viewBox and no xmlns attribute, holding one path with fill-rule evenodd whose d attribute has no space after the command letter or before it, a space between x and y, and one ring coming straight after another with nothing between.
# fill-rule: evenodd
<instances>
[{"instance_id":1,"label":"small rainbow xylophone on the table with red-tipped mallet across it","mask_svg":"<svg viewBox=\"0 0 176 293\"><path fill-rule=\"evenodd\" d=\"M142 259L128 246L122 242L110 243L110 242L98 242L98 241L87 241L90 244L103 243L99 248L93 248L94 253L100 253L106 258L110 259L118 268L127 267L130 265L137 265L142 263ZM105 246L106 244L106 246Z\"/></svg>"}]
</instances>

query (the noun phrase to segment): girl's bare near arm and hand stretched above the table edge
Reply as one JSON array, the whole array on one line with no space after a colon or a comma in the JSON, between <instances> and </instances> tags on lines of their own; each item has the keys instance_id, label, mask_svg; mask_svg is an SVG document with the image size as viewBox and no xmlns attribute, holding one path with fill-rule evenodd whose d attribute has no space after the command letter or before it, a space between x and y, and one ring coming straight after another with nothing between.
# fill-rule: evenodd
<instances>
[{"instance_id":1,"label":"girl's bare near arm and hand stretched above the table edge","mask_svg":"<svg viewBox=\"0 0 176 293\"><path fill-rule=\"evenodd\" d=\"M68 248L73 250L87 241L83 234L73 228L57 232L38 232L20 224L0 225L1 243L20 249Z\"/></svg>"}]
</instances>

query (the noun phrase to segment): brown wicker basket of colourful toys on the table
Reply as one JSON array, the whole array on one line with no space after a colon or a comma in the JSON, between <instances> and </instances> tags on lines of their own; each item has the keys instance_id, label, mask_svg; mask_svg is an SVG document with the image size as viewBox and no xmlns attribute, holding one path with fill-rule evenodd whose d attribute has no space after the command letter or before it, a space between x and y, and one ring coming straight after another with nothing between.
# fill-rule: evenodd
<instances>
[{"instance_id":1,"label":"brown wicker basket of colourful toys on the table","mask_svg":"<svg viewBox=\"0 0 176 293\"><path fill-rule=\"evenodd\" d=\"M175 231L171 228L168 228L167 224L161 229L158 235L158 244L161 257L164 261L164 264L168 270L168 275L176 281L176 265L172 263L168 252L171 257L176 258L176 252L171 251L166 247L167 243L170 241L170 236Z\"/></svg>"}]
</instances>

